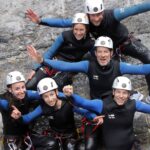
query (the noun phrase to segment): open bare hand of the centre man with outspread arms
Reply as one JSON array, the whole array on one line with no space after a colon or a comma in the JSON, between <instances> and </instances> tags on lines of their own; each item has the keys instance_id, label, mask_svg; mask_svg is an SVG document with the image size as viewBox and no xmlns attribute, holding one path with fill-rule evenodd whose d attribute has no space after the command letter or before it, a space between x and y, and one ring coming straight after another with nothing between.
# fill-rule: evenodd
<instances>
[{"instance_id":1,"label":"open bare hand of the centre man with outspread arms","mask_svg":"<svg viewBox=\"0 0 150 150\"><path fill-rule=\"evenodd\" d=\"M32 45L27 46L27 51L28 51L29 56L34 61L36 61L37 63L42 63L43 62L42 55L39 52L37 52L37 50Z\"/></svg>"}]
</instances>

